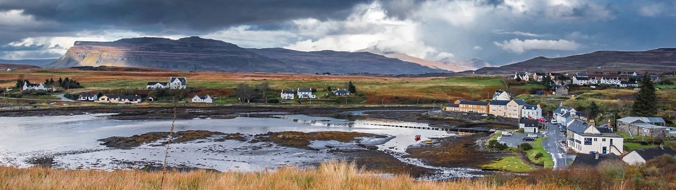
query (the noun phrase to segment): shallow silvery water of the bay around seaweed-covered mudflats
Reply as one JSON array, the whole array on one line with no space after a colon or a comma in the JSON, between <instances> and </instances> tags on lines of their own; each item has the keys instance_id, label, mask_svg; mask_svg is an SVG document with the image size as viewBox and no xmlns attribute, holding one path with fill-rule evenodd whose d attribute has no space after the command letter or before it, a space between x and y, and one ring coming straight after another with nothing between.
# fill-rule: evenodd
<instances>
[{"instance_id":1,"label":"shallow silvery water of the bay around seaweed-covered mudflats","mask_svg":"<svg viewBox=\"0 0 676 190\"><path fill-rule=\"evenodd\" d=\"M132 150L116 150L99 145L110 136L130 136L151 131L169 131L171 121L118 121L106 115L73 115L47 117L0 117L0 164L29 166L26 158L52 155L59 168L95 168L112 170L132 168L142 164L158 164L164 160L164 146L143 145ZM377 145L397 158L408 146L429 137L456 135L450 131L385 127L372 124L428 127L425 123L358 120L347 121L329 117L305 115L275 115L268 118L236 117L234 119L178 120L175 131L209 130L224 133L255 135L268 131L355 131L388 135L391 138L364 138L363 144ZM251 137L249 137L251 138ZM345 147L338 141L313 141L313 147ZM258 150L251 148L258 147ZM349 147L347 147L349 148ZM220 150L220 151L216 151ZM79 152L77 152L79 151ZM271 143L250 144L227 140L223 142L192 141L172 144L169 163L174 166L194 166L217 170L264 170L279 166L304 166L335 158L335 154L285 148ZM423 165L416 160L406 160ZM444 168L439 168L444 169ZM449 168L449 170L451 170ZM452 169L455 170L455 169Z\"/></svg>"}]
</instances>

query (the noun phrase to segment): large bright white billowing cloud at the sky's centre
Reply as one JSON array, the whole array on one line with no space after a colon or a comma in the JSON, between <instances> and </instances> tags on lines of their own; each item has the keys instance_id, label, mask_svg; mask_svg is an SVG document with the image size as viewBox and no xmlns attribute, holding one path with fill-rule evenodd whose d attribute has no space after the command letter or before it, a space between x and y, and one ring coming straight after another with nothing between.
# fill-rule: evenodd
<instances>
[{"instance_id":1,"label":"large bright white billowing cloud at the sky's centre","mask_svg":"<svg viewBox=\"0 0 676 190\"><path fill-rule=\"evenodd\" d=\"M425 44L418 32L419 23L389 18L377 2L361 5L345 21L294 20L297 42L284 46L297 51L358 51L406 53L414 57L435 57L438 51Z\"/></svg>"}]
</instances>

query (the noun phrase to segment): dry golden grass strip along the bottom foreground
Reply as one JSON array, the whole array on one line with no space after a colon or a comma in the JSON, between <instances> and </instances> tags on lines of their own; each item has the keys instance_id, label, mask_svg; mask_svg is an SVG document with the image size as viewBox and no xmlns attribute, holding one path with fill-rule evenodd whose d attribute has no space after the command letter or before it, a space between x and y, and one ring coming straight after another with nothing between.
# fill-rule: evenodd
<instances>
[{"instance_id":1,"label":"dry golden grass strip along the bottom foreground","mask_svg":"<svg viewBox=\"0 0 676 190\"><path fill-rule=\"evenodd\" d=\"M168 172L164 189L569 189L556 185L504 183L483 179L414 181L404 175L377 177L354 164L328 162L318 168L267 172ZM161 189L161 172L57 170L0 167L0 189Z\"/></svg>"}]
</instances>

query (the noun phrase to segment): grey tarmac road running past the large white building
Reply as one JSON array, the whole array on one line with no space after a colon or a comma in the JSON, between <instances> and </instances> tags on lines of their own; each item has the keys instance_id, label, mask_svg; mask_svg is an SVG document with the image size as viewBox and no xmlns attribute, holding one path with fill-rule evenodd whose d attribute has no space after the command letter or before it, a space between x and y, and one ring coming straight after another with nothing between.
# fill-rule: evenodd
<instances>
[{"instance_id":1,"label":"grey tarmac road running past the large white building","mask_svg":"<svg viewBox=\"0 0 676 190\"><path fill-rule=\"evenodd\" d=\"M561 144L561 141L566 141L566 136L558 130L558 125L544 124L547 126L545 135L549 138L542 141L542 146L552 156L554 168L566 168L568 162L575 160L575 154L566 154L566 148Z\"/></svg>"}]
</instances>

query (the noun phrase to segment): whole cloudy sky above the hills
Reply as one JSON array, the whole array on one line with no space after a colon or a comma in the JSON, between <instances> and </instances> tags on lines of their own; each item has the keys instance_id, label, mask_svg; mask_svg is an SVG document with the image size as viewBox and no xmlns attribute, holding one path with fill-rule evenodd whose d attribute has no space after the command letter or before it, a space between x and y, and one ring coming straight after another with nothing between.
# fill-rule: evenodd
<instances>
[{"instance_id":1,"label":"whole cloudy sky above the hills","mask_svg":"<svg viewBox=\"0 0 676 190\"><path fill-rule=\"evenodd\" d=\"M676 47L675 34L676 0L0 0L0 59L58 58L78 40L201 36L504 65Z\"/></svg>"}]
</instances>

